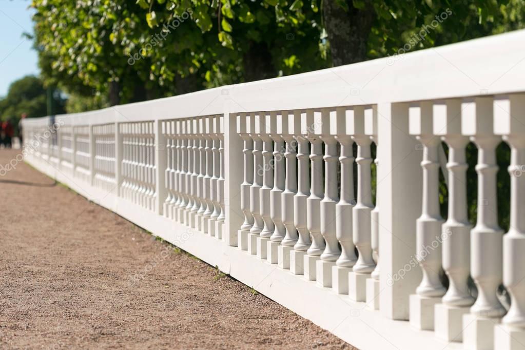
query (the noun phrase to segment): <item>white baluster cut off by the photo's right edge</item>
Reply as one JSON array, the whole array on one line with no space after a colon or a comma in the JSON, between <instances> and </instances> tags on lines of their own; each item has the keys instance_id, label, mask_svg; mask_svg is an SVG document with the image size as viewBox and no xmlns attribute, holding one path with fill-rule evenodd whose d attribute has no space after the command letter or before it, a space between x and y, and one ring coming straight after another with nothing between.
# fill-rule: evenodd
<instances>
[{"instance_id":1,"label":"white baluster cut off by the photo's right edge","mask_svg":"<svg viewBox=\"0 0 525 350\"><path fill-rule=\"evenodd\" d=\"M510 294L510 309L503 326L495 326L495 349L522 349L525 344L525 95L511 94L494 101L498 134L511 147L510 227L503 236L503 284Z\"/></svg>"}]
</instances>

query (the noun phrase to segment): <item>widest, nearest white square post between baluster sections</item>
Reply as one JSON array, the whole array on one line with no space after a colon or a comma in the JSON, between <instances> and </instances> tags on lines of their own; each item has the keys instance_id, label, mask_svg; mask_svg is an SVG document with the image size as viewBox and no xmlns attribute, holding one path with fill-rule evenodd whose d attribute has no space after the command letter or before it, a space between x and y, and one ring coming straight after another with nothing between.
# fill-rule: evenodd
<instances>
[{"instance_id":1,"label":"widest, nearest white square post between baluster sections","mask_svg":"<svg viewBox=\"0 0 525 350\"><path fill-rule=\"evenodd\" d=\"M408 296L421 282L421 269L409 268L416 250L416 219L421 215L421 151L408 133L408 104L377 104L377 193L379 217L380 312L408 320Z\"/></svg>"}]
</instances>

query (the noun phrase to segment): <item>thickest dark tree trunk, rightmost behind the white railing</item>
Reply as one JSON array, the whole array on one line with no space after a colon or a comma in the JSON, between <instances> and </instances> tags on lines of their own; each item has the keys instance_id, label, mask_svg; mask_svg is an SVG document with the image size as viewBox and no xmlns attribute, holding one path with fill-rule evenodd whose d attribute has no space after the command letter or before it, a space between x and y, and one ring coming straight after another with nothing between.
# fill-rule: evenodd
<instances>
[{"instance_id":1,"label":"thickest dark tree trunk, rightmost behind the white railing","mask_svg":"<svg viewBox=\"0 0 525 350\"><path fill-rule=\"evenodd\" d=\"M365 7L353 7L351 0L345 0L348 11L336 0L323 1L324 27L330 41L332 65L341 66L366 60L367 42L375 19L370 0Z\"/></svg>"}]
</instances>

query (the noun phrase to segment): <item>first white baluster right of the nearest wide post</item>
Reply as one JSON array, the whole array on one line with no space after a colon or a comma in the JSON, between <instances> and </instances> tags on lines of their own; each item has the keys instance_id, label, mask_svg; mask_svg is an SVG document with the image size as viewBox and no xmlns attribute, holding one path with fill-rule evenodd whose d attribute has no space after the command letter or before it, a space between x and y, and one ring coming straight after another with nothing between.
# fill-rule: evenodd
<instances>
[{"instance_id":1,"label":"first white baluster right of the nearest wide post","mask_svg":"<svg viewBox=\"0 0 525 350\"><path fill-rule=\"evenodd\" d=\"M420 330L434 330L434 306L445 294L439 279L441 269L441 228L439 213L439 136L433 134L432 102L409 109L410 133L423 145L423 204L416 220L416 260L423 278L410 296L410 324Z\"/></svg>"}]
</instances>

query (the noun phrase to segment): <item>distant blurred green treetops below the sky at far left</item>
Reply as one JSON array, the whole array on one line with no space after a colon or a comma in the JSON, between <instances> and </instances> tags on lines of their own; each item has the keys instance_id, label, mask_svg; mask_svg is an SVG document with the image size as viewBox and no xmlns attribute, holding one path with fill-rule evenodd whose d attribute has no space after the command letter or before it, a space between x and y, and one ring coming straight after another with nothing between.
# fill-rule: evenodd
<instances>
[{"instance_id":1,"label":"distant blurred green treetops below the sky at far left","mask_svg":"<svg viewBox=\"0 0 525 350\"><path fill-rule=\"evenodd\" d=\"M64 113L64 99L59 91L53 94L55 112ZM0 100L0 119L17 123L22 114L28 118L47 115L47 91L42 81L26 76L9 86L7 96Z\"/></svg>"}]
</instances>

